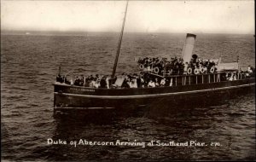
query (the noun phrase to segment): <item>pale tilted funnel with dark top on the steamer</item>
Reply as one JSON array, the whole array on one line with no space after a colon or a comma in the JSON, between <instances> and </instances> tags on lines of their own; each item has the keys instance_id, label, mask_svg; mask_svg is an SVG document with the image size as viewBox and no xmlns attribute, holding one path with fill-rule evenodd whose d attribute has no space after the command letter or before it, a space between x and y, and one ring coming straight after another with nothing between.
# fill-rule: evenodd
<instances>
[{"instance_id":1,"label":"pale tilted funnel with dark top on the steamer","mask_svg":"<svg viewBox=\"0 0 256 162\"><path fill-rule=\"evenodd\" d=\"M192 52L194 49L195 38L196 38L195 34L187 33L186 41L183 46L183 62L184 63L185 62L189 63L189 61L192 58Z\"/></svg>"}]
</instances>

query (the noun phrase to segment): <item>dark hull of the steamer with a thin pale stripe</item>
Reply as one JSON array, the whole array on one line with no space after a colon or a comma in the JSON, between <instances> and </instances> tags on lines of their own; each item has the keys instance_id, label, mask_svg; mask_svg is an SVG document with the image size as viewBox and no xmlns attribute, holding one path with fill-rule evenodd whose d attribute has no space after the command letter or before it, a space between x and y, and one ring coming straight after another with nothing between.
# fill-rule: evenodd
<instances>
[{"instance_id":1,"label":"dark hull of the steamer with a thin pale stripe","mask_svg":"<svg viewBox=\"0 0 256 162\"><path fill-rule=\"evenodd\" d=\"M255 78L211 84L142 89L91 89L55 84L55 109L205 105L255 90Z\"/></svg>"}]
</instances>

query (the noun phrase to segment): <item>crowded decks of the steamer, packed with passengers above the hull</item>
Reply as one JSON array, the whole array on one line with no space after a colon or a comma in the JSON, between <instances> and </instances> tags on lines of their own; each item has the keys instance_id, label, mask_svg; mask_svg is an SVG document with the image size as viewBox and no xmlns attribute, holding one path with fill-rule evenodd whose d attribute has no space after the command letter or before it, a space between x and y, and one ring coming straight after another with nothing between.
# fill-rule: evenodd
<instances>
[{"instance_id":1,"label":"crowded decks of the steamer, packed with passengers above the hull","mask_svg":"<svg viewBox=\"0 0 256 162\"><path fill-rule=\"evenodd\" d=\"M67 75L56 77L61 84L84 86L90 88L154 88L189 84L206 84L233 81L255 76L255 69L247 67L246 71L232 70L220 72L218 60L204 60L192 55L191 61L183 63L182 58L139 58L139 73L122 73L112 78L110 75L80 75L67 79Z\"/></svg>"}]
</instances>

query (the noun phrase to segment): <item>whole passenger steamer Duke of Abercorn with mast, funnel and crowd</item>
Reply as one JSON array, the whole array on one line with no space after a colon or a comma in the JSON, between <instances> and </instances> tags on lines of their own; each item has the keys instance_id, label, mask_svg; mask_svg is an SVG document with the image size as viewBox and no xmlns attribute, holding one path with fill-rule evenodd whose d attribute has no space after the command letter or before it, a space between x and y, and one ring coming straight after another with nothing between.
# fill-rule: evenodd
<instances>
[{"instance_id":1,"label":"whole passenger steamer Duke of Abercorn with mast, funnel and crowd","mask_svg":"<svg viewBox=\"0 0 256 162\"><path fill-rule=\"evenodd\" d=\"M185 38L181 58L139 58L139 74L116 76L125 17L119 37L112 75L82 76L67 79L56 77L54 84L54 109L123 109L150 107L155 104L173 105L218 101L255 90L255 70L241 70L236 62L222 63L200 59L192 55L195 34Z\"/></svg>"}]
</instances>

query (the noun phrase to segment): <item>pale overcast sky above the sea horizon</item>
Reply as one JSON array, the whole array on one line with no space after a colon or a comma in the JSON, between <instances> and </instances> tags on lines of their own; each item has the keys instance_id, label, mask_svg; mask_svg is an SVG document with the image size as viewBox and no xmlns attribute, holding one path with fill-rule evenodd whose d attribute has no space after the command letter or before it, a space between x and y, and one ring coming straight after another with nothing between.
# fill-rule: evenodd
<instances>
[{"instance_id":1,"label":"pale overcast sky above the sea horizon","mask_svg":"<svg viewBox=\"0 0 256 162\"><path fill-rule=\"evenodd\" d=\"M1 30L119 32L125 1L1 1ZM254 34L253 1L129 1L125 32Z\"/></svg>"}]
</instances>

